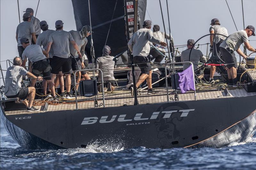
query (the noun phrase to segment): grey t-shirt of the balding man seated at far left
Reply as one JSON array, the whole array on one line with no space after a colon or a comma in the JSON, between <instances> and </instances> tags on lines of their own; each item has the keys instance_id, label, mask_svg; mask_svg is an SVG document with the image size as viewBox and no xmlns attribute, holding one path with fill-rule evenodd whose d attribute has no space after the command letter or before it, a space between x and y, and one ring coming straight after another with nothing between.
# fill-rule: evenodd
<instances>
[{"instance_id":1,"label":"grey t-shirt of the balding man seated at far left","mask_svg":"<svg viewBox=\"0 0 256 170\"><path fill-rule=\"evenodd\" d=\"M25 76L27 73L28 71L23 67L17 65L9 67L5 76L4 94L6 96L13 96L18 94L21 88L22 76Z\"/></svg>"}]
</instances>

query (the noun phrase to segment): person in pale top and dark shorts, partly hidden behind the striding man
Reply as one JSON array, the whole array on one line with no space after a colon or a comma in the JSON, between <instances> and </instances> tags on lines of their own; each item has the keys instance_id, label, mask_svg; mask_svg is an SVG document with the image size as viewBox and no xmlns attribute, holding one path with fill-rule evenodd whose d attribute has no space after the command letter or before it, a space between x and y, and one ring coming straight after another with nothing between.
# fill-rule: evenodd
<instances>
[{"instance_id":1,"label":"person in pale top and dark shorts, partly hidden behind the striding man","mask_svg":"<svg viewBox=\"0 0 256 170\"><path fill-rule=\"evenodd\" d=\"M159 39L160 41L164 41L165 42L165 33L164 32L161 32L159 31L160 30L160 26L158 25L154 25L153 26L153 36L157 39ZM170 40L170 35L169 34L166 34L166 38L168 40ZM156 48L165 55L165 49L163 46L160 46L159 44L154 44L154 46L156 46ZM164 58L164 55L160 54L155 48L151 48L150 49L150 53L153 58L152 60L155 58L155 61L156 63L160 63L163 58Z\"/></svg>"}]
</instances>

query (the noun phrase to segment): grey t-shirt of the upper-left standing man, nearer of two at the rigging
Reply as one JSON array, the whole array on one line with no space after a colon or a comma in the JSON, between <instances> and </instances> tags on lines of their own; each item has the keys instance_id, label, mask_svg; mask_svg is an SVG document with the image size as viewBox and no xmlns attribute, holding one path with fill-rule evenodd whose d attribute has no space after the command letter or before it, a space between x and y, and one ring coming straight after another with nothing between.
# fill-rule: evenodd
<instances>
[{"instance_id":1,"label":"grey t-shirt of the upper-left standing man, nearer of two at the rigging","mask_svg":"<svg viewBox=\"0 0 256 170\"><path fill-rule=\"evenodd\" d=\"M35 33L35 27L31 22L24 21L17 26L16 34L18 34L18 46L22 46L20 44L20 39L23 37L28 38L29 43L31 44L32 35L31 33Z\"/></svg>"}]
</instances>

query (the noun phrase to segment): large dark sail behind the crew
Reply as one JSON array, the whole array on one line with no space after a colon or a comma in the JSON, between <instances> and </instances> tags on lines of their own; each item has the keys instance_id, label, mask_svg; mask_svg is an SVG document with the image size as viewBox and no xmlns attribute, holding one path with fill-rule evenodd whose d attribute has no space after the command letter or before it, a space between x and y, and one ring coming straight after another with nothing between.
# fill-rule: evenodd
<instances>
[{"instance_id":1,"label":"large dark sail behind the crew","mask_svg":"<svg viewBox=\"0 0 256 170\"><path fill-rule=\"evenodd\" d=\"M85 25L90 25L88 0L72 0L74 15L76 20L76 29L78 31ZM116 10L114 11L116 4ZM140 20L144 21L146 14L147 0L138 1L138 11ZM124 20L124 0L90 0L92 38L95 57L102 55L102 48L105 45L107 35L107 44L111 48L111 55L118 55L127 50L125 20ZM112 24L112 15L114 12ZM140 24L141 25L141 24ZM108 34L109 30L109 34ZM86 53L91 61L91 36L87 37Z\"/></svg>"}]
</instances>

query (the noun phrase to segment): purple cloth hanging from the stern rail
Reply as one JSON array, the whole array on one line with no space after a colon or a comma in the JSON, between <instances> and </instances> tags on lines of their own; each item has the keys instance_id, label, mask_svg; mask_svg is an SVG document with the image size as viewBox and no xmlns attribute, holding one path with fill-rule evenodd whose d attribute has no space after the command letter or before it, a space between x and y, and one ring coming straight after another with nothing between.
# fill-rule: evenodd
<instances>
[{"instance_id":1,"label":"purple cloth hanging from the stern rail","mask_svg":"<svg viewBox=\"0 0 256 170\"><path fill-rule=\"evenodd\" d=\"M186 70L178 73L180 76L179 78L179 85L181 93L185 93L189 90L195 90L195 82L194 82L194 70L192 69L192 65L190 65Z\"/></svg>"}]
</instances>

